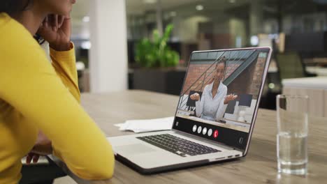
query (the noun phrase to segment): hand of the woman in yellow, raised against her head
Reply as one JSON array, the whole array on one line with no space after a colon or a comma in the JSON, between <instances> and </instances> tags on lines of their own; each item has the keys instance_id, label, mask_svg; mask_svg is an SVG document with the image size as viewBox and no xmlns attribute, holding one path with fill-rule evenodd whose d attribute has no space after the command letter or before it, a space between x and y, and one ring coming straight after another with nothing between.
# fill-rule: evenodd
<instances>
[{"instance_id":1,"label":"hand of the woman in yellow, raised against her head","mask_svg":"<svg viewBox=\"0 0 327 184\"><path fill-rule=\"evenodd\" d=\"M71 48L71 17L48 15L38 29L38 34L48 41L52 49L69 50Z\"/></svg>"}]
</instances>

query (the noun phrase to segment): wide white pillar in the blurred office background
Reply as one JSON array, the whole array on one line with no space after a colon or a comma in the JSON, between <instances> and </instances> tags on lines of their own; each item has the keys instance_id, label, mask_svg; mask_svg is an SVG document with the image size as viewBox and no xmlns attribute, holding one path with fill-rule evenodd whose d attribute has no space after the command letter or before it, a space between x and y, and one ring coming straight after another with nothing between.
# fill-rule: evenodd
<instances>
[{"instance_id":1,"label":"wide white pillar in the blurred office background","mask_svg":"<svg viewBox=\"0 0 327 184\"><path fill-rule=\"evenodd\" d=\"M89 2L91 92L127 89L125 0Z\"/></svg>"}]
</instances>

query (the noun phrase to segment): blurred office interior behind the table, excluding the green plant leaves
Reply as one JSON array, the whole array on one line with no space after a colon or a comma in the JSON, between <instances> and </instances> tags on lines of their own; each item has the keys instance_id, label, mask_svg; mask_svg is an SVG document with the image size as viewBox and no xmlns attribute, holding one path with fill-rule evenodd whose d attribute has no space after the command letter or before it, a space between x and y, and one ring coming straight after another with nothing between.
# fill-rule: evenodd
<instances>
[{"instance_id":1,"label":"blurred office interior behind the table, excluding the green plant leaves","mask_svg":"<svg viewBox=\"0 0 327 184\"><path fill-rule=\"evenodd\" d=\"M266 109L275 109L282 79L327 75L327 0L79 0L71 16L82 92L180 95L191 52L208 49L273 48ZM165 44L177 63L137 62L140 40L154 40L155 30L162 36L167 26Z\"/></svg>"}]
</instances>

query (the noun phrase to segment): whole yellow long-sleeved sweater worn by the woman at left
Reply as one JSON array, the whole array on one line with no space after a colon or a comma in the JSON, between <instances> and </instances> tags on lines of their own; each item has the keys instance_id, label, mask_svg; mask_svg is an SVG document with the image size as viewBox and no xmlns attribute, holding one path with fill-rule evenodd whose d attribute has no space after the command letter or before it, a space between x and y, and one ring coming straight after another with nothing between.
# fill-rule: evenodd
<instances>
[{"instance_id":1,"label":"whole yellow long-sleeved sweater worn by the woman at left","mask_svg":"<svg viewBox=\"0 0 327 184\"><path fill-rule=\"evenodd\" d=\"M0 13L0 183L18 183L21 158L38 130L80 178L105 179L115 159L103 132L79 104L72 49L45 52L22 24Z\"/></svg>"}]
</instances>

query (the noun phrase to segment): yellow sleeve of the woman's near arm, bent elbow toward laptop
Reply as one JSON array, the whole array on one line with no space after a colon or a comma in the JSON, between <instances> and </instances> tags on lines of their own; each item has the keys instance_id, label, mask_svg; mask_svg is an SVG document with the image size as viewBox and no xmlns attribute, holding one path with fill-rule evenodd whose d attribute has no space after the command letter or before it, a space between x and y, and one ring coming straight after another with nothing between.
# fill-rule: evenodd
<instances>
[{"instance_id":1,"label":"yellow sleeve of the woman's near arm, bent elbow toward laptop","mask_svg":"<svg viewBox=\"0 0 327 184\"><path fill-rule=\"evenodd\" d=\"M1 31L10 36L0 43L0 98L52 140L74 174L111 178L115 158L106 136L61 82L38 43L17 29Z\"/></svg>"}]
</instances>

